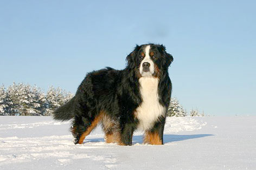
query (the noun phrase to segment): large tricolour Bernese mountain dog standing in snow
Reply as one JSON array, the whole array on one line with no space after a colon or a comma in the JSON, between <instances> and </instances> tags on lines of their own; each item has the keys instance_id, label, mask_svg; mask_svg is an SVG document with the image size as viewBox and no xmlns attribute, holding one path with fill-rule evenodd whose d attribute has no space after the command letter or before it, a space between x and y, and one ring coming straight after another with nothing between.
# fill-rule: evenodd
<instances>
[{"instance_id":1,"label":"large tricolour Bernese mountain dog standing in snow","mask_svg":"<svg viewBox=\"0 0 256 170\"><path fill-rule=\"evenodd\" d=\"M137 45L126 57L126 67L107 67L88 73L75 96L54 113L54 119L73 119L75 144L98 123L107 143L132 145L136 129L144 130L144 143L163 144L165 117L171 97L168 67L172 55L163 45Z\"/></svg>"}]
</instances>

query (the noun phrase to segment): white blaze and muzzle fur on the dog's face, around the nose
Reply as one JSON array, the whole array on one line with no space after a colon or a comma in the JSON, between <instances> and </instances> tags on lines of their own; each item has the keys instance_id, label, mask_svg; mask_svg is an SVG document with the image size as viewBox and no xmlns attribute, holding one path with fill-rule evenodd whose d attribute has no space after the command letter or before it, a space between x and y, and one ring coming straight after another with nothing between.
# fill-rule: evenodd
<instances>
[{"instance_id":1,"label":"white blaze and muzzle fur on the dog's face, around the nose","mask_svg":"<svg viewBox=\"0 0 256 170\"><path fill-rule=\"evenodd\" d=\"M152 74L154 74L155 70L154 70L154 63L151 60L150 56L149 56L149 50L150 50L150 45L147 45L145 48L145 57L143 58L142 62L140 63L140 67L139 67L139 73L142 76L152 76ZM150 64L149 67L149 71L143 71L143 63L148 62Z\"/></svg>"}]
</instances>

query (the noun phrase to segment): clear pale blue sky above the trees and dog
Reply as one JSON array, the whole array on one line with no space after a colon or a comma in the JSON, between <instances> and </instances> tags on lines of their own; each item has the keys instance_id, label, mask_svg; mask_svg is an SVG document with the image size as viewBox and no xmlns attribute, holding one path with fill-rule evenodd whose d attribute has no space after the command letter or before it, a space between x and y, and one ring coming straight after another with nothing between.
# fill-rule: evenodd
<instances>
[{"instance_id":1,"label":"clear pale blue sky above the trees and dog","mask_svg":"<svg viewBox=\"0 0 256 170\"><path fill-rule=\"evenodd\" d=\"M256 1L0 1L0 83L75 93L86 73L164 44L189 112L255 115Z\"/></svg>"}]
</instances>

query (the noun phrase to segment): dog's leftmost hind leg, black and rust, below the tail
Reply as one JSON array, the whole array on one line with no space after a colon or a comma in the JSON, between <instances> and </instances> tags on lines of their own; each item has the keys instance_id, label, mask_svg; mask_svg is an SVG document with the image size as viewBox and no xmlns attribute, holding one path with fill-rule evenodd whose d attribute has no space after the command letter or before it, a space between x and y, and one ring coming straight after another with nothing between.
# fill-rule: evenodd
<instances>
[{"instance_id":1,"label":"dog's leftmost hind leg, black and rust, below the tail","mask_svg":"<svg viewBox=\"0 0 256 170\"><path fill-rule=\"evenodd\" d=\"M103 113L95 115L91 119L88 117L75 117L74 124L71 128L71 131L74 136L73 142L75 144L82 144L85 140L85 137L89 135L92 130L98 125L103 117Z\"/></svg>"}]
</instances>

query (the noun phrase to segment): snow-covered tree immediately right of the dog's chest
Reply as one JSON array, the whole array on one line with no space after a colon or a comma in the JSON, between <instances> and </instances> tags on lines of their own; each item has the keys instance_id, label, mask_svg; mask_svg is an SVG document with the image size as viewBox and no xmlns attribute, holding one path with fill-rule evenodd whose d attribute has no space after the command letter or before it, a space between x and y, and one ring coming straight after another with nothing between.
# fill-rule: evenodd
<instances>
[{"instance_id":1,"label":"snow-covered tree immediately right of the dog's chest","mask_svg":"<svg viewBox=\"0 0 256 170\"><path fill-rule=\"evenodd\" d=\"M185 112L180 102L173 98L170 100L167 116L187 116L187 112Z\"/></svg>"}]
</instances>

